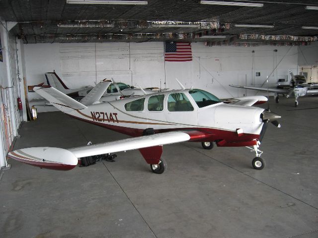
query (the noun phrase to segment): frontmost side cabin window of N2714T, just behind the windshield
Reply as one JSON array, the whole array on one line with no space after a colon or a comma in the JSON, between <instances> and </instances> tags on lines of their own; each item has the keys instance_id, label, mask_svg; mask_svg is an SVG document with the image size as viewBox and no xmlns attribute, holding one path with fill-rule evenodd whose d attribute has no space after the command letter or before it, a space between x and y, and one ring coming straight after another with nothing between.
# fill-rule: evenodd
<instances>
[{"instance_id":1,"label":"frontmost side cabin window of N2714T, just behind the windshield","mask_svg":"<svg viewBox=\"0 0 318 238\"><path fill-rule=\"evenodd\" d=\"M193 106L184 93L171 93L168 97L169 112L193 111Z\"/></svg>"}]
</instances>

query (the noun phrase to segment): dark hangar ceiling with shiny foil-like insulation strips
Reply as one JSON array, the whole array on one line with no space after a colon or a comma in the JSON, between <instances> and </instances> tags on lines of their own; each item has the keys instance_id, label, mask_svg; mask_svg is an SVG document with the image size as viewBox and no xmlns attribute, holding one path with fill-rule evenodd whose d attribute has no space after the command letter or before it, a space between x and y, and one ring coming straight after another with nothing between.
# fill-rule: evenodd
<instances>
[{"instance_id":1,"label":"dark hangar ceiling with shiny foil-like insulation strips","mask_svg":"<svg viewBox=\"0 0 318 238\"><path fill-rule=\"evenodd\" d=\"M6 21L18 22L10 32L25 43L204 41L306 44L317 40L318 10L306 9L308 5L318 7L317 0L226 1L263 3L263 6L206 5L200 4L199 0L148 0L147 5L0 0L0 16ZM237 27L237 24L273 27ZM317 29L304 29L304 26Z\"/></svg>"}]
</instances>

